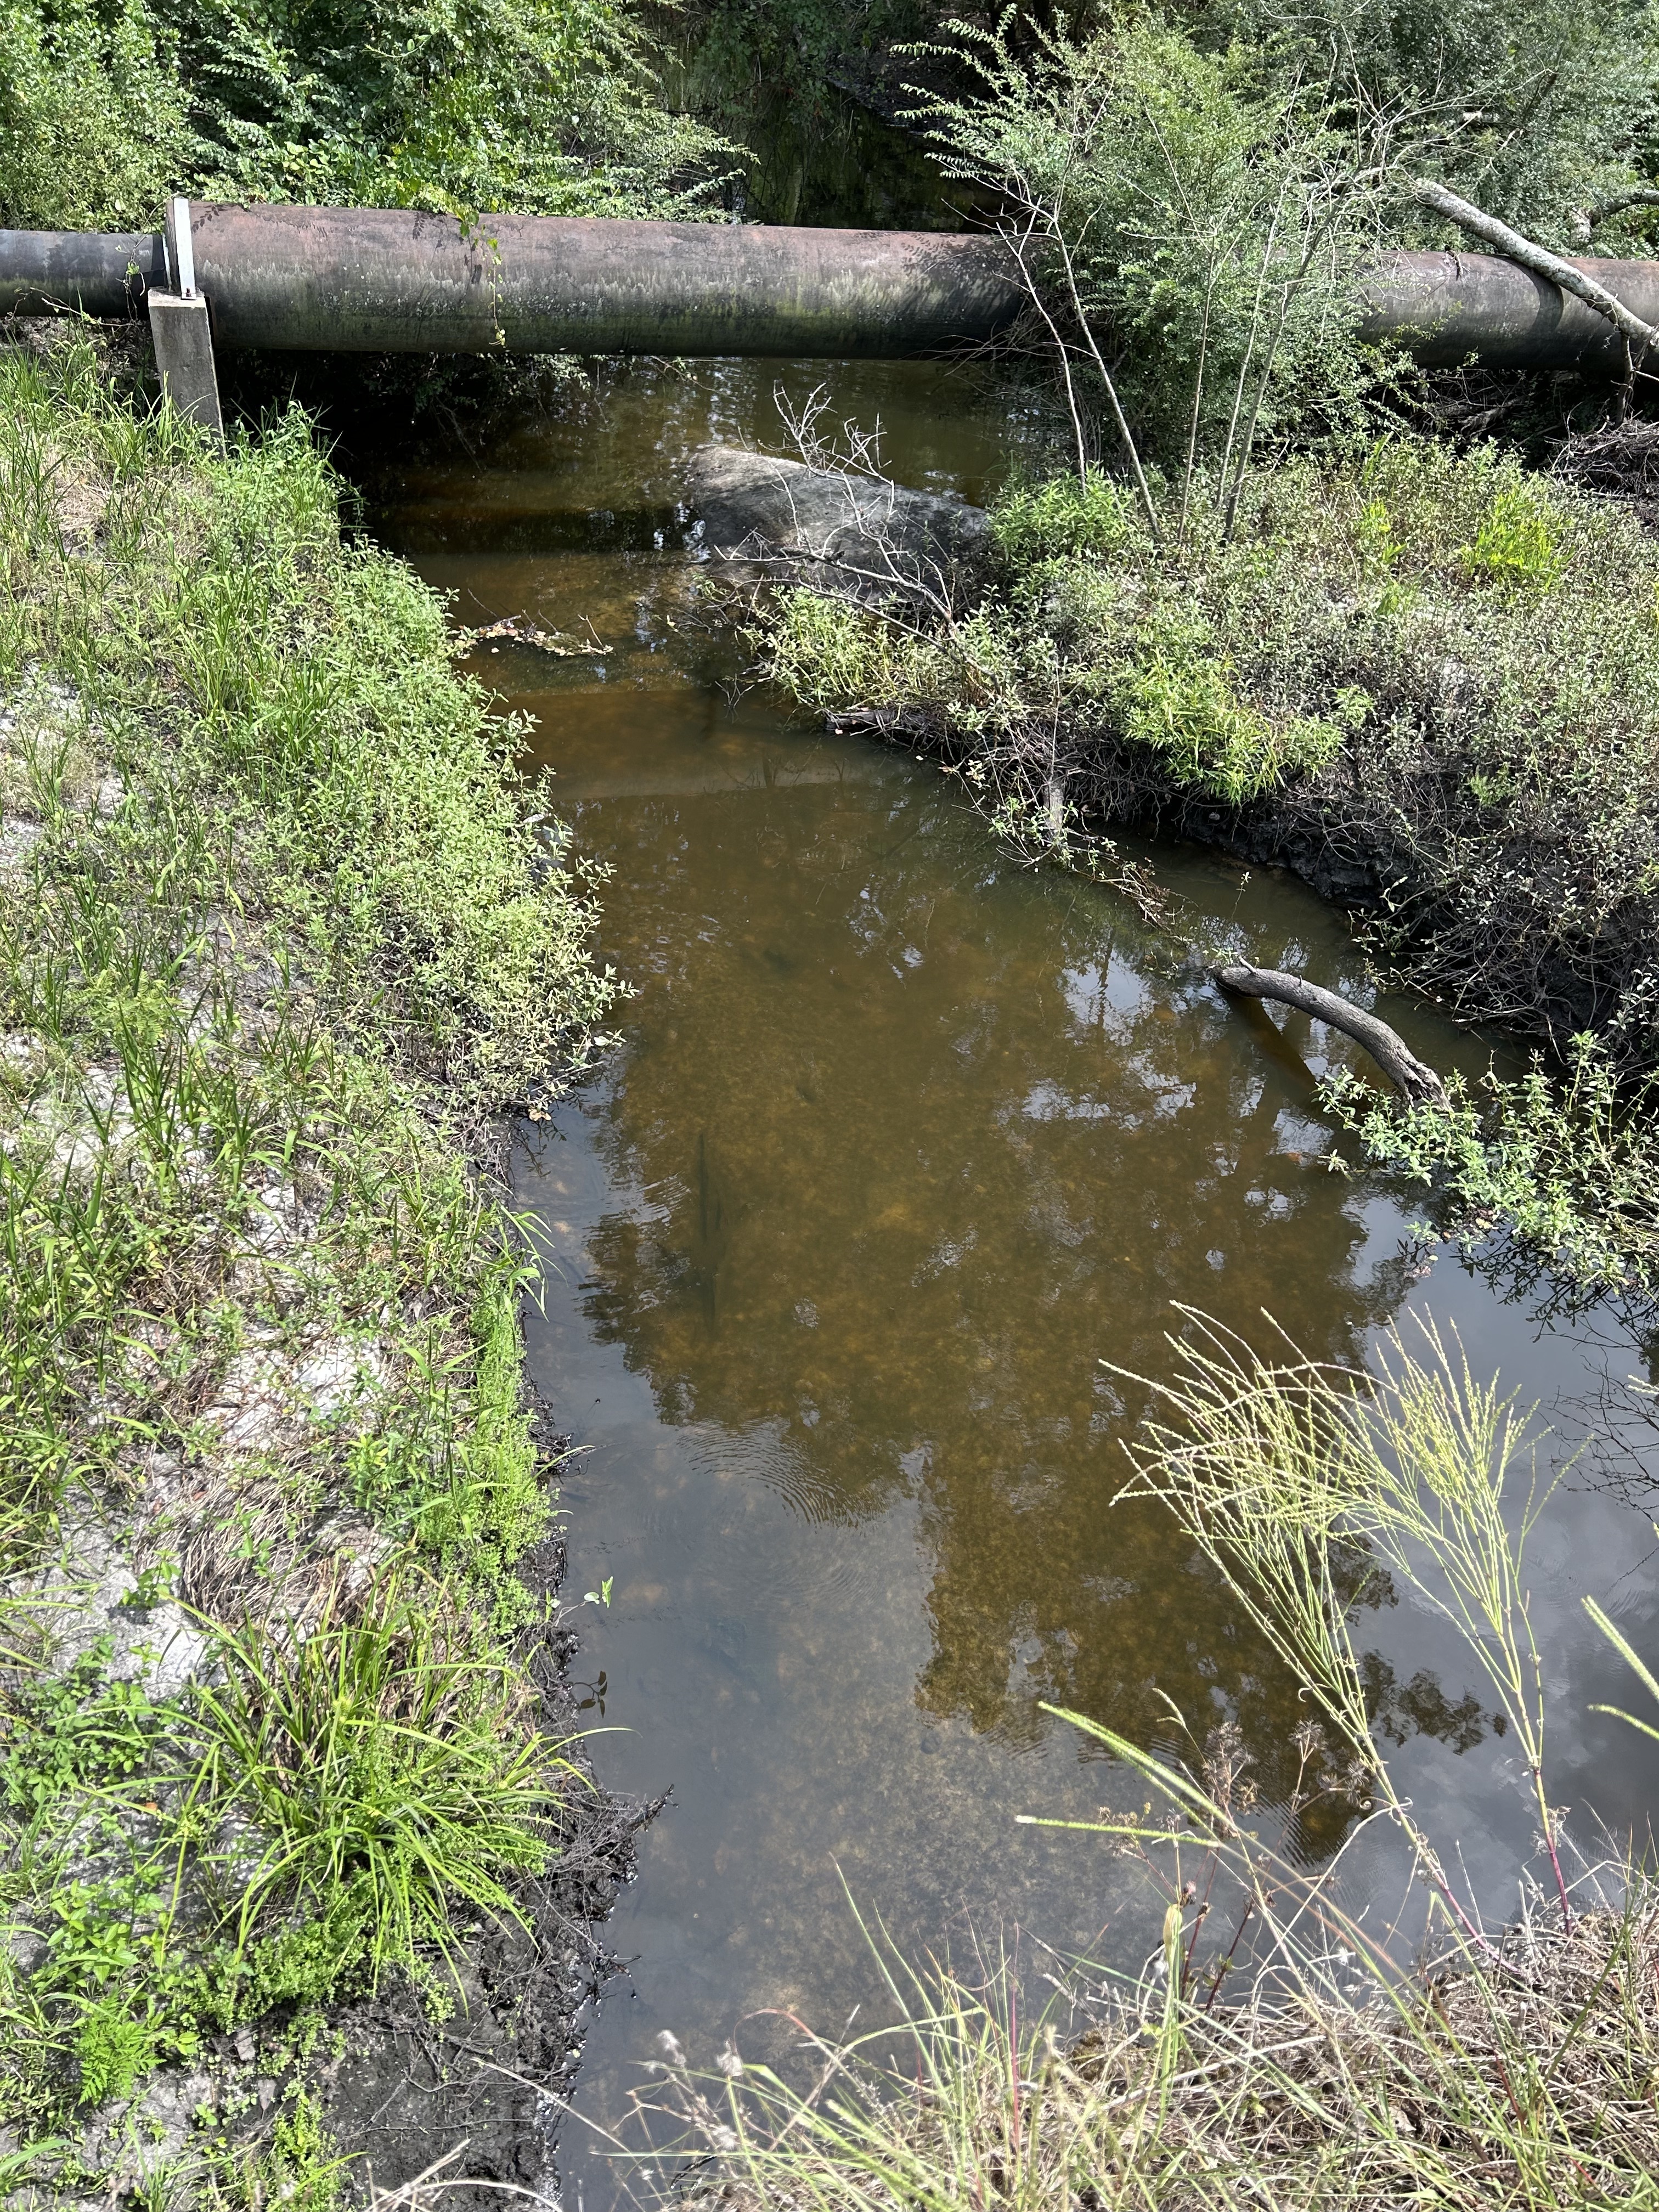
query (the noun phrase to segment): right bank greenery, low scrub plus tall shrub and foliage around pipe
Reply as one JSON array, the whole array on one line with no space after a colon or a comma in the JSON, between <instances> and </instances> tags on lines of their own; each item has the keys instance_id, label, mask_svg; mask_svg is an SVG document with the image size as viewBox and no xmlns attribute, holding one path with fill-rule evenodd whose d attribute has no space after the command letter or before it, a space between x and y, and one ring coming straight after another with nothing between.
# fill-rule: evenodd
<instances>
[{"instance_id":1,"label":"right bank greenery, low scrub plus tall shrub and foliage around pipe","mask_svg":"<svg viewBox=\"0 0 1659 2212\"><path fill-rule=\"evenodd\" d=\"M1540 239L1628 246L1655 49L1624 11L1542 9L1524 55L1484 22L945 24L947 88L914 113L1000 199L1068 473L1004 493L993 557L925 604L785 591L757 637L803 706L931 730L1024 852L1113 874L1128 821L1290 863L1451 1013L1577 1055L1571 1086L1451 1119L1354 1115L1462 1232L1646 1294L1659 560L1564 476L1402 429L1422 414L1363 343L1358 274L1436 239L1420 173ZM1617 1194L1573 1168L1590 1128Z\"/></svg>"}]
</instances>

